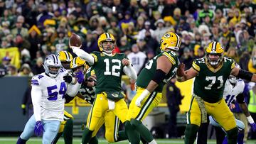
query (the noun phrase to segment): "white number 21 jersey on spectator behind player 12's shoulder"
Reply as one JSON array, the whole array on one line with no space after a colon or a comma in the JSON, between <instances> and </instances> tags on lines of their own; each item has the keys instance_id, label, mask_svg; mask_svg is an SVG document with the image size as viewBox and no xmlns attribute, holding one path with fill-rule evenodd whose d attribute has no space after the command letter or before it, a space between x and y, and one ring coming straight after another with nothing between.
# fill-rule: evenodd
<instances>
[{"instance_id":1,"label":"white number 21 jersey on spectator behind player 12's shoulder","mask_svg":"<svg viewBox=\"0 0 256 144\"><path fill-rule=\"evenodd\" d=\"M146 59L146 55L144 54L144 52L131 52L129 53L129 55L127 55L127 57L129 60L131 60L134 70L138 74L139 70L141 70L141 68L144 66L143 64Z\"/></svg>"}]
</instances>

